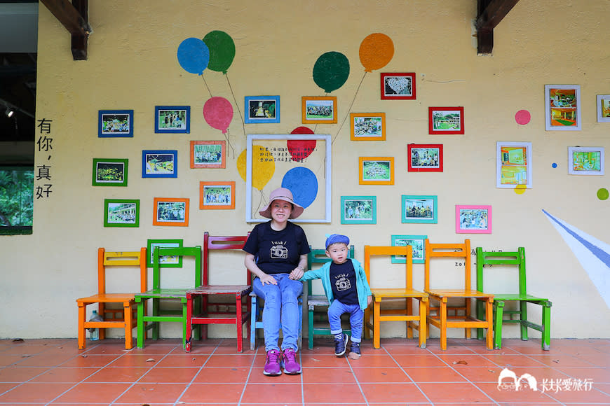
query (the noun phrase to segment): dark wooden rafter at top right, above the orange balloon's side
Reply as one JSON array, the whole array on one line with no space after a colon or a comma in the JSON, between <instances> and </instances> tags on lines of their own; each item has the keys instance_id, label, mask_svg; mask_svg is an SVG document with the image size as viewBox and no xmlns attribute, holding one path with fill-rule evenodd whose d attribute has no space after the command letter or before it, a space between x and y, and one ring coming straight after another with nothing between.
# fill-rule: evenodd
<instances>
[{"instance_id":1,"label":"dark wooden rafter at top right, above the orange balloon's side","mask_svg":"<svg viewBox=\"0 0 610 406\"><path fill-rule=\"evenodd\" d=\"M490 54L494 49L494 28L519 0L477 0L477 52Z\"/></svg>"}]
</instances>

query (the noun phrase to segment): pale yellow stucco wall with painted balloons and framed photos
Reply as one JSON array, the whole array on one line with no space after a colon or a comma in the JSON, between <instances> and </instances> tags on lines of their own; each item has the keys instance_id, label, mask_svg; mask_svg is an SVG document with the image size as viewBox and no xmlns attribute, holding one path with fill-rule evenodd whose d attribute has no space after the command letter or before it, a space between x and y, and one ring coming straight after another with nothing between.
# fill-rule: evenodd
<instances>
[{"instance_id":1,"label":"pale yellow stucco wall with painted balloons and framed photos","mask_svg":"<svg viewBox=\"0 0 610 406\"><path fill-rule=\"evenodd\" d=\"M390 244L391 235L428 235L433 242L469 237L473 248L524 246L529 291L553 301L552 336L610 337L610 325L600 323L610 319L609 307L542 211L610 241L610 200L595 195L610 186L608 176L567 174L569 146L610 146L610 124L597 123L595 111L596 94L610 93L607 2L521 0L494 30L494 52L487 56L476 52L475 15L472 0L91 1L88 60L74 61L69 34L41 3L36 118L53 120L47 134L53 150L37 151L36 165L51 166L53 186L48 198L34 203L33 235L1 236L0 337L75 337L75 299L96 289L99 246L135 251L149 238L196 245L204 230L251 230L245 182L236 168L245 134L287 134L302 125L301 96L324 95L312 69L328 51L346 55L351 71L331 94L338 99L339 123L315 127L335 139L332 223L303 225L310 243L321 247L326 233L346 234L359 260L365 244ZM235 42L227 75L184 71L176 57L179 43L212 30L225 31ZM395 53L383 69L365 74L358 49L374 32L389 36ZM416 100L381 100L379 72L415 72ZM546 84L581 85L581 131L545 131ZM229 140L235 155L227 148L226 169L190 169L189 141L224 139L203 120L210 93L233 104ZM245 96L264 94L280 96L281 122L243 125L236 108L243 113ZM155 134L158 105L191 106L191 133ZM466 133L429 135L428 106L463 106ZM133 109L135 137L98 138L102 109ZM529 124L515 123L520 109L531 113ZM343 123L350 111L386 113L386 141L351 141L348 120ZM531 141L534 187L524 194L495 187L496 141ZM444 172L407 172L409 143L443 144ZM177 179L142 179L144 149L176 149ZM393 156L395 184L360 186L360 156ZM93 187L93 158L128 158L128 187ZM198 183L205 180L236 181L235 209L198 209ZM49 182L36 186L43 183ZM264 195L278 186L267 184ZM341 225L344 195L377 196L377 225ZM438 195L438 224L402 224L401 195ZM188 197L189 227L153 226L154 197ZM104 198L139 199L140 227L104 228ZM457 235L455 204L491 204L493 233ZM217 265L221 277L242 278L242 258L228 262ZM388 279L400 279L402 269L388 262L379 266L386 265ZM421 288L423 265L415 265L414 274ZM538 309L530 314L539 318ZM402 323L384 325L384 336L404 334ZM506 328L506 334L518 332ZM163 335L175 337L179 330L164 328ZM231 337L232 329L213 329L212 335Z\"/></svg>"}]
</instances>

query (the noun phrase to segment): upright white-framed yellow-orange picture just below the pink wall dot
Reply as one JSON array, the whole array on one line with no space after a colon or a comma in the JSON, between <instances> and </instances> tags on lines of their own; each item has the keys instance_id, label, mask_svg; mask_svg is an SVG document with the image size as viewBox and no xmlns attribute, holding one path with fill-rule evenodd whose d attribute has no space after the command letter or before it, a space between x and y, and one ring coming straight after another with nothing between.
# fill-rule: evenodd
<instances>
[{"instance_id":1,"label":"upright white-framed yellow-orange picture just below the pink wall dot","mask_svg":"<svg viewBox=\"0 0 610 406\"><path fill-rule=\"evenodd\" d=\"M531 188L531 142L496 142L496 188Z\"/></svg>"}]
</instances>

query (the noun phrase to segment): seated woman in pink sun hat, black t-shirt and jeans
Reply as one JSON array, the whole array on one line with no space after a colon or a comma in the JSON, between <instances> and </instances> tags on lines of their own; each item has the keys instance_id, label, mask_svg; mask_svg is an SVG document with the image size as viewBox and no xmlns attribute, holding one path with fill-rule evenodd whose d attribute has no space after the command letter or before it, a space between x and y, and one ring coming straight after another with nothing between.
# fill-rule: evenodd
<instances>
[{"instance_id":1,"label":"seated woman in pink sun hat, black t-shirt and jeans","mask_svg":"<svg viewBox=\"0 0 610 406\"><path fill-rule=\"evenodd\" d=\"M294 203L290 190L279 188L271 192L269 205L259 213L271 221L255 225L243 250L245 266L256 275L252 289L265 300L263 373L279 375L283 363L286 374L300 374L296 353L301 320L298 297L303 293L303 283L298 279L307 266L309 243L303 229L288 219L299 217L303 207ZM284 337L282 353L278 346L280 323Z\"/></svg>"}]
</instances>

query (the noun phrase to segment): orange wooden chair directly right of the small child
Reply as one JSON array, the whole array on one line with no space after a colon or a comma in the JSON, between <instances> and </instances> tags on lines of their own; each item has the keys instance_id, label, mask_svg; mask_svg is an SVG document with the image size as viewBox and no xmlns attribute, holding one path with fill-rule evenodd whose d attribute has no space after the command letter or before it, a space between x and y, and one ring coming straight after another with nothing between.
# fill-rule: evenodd
<instances>
[{"instance_id":1,"label":"orange wooden chair directly right of the small child","mask_svg":"<svg viewBox=\"0 0 610 406\"><path fill-rule=\"evenodd\" d=\"M413 329L419 330L419 346L426 348L426 314L428 309L428 294L413 289L413 247L408 246L368 246L365 245L365 273L371 281L371 257L373 255L405 255L405 287L404 288L374 288L371 323L371 307L365 311L365 335L373 331L373 347L381 348L381 321L406 321L407 337L413 338ZM389 258L388 258L389 259ZM379 272L381 273L381 272ZM419 314L413 314L413 300L419 302ZM381 303L401 302L401 307L381 309ZM417 323L415 323L417 322Z\"/></svg>"}]
</instances>

